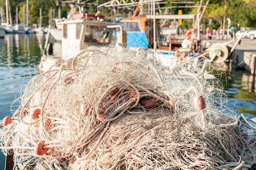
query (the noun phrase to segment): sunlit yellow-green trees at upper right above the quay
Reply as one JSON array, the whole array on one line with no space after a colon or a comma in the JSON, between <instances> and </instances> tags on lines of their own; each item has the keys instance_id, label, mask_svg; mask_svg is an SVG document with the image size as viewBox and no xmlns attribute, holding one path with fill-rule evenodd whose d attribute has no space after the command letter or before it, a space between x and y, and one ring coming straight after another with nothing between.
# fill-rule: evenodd
<instances>
[{"instance_id":1,"label":"sunlit yellow-green trees at upper right above the quay","mask_svg":"<svg viewBox=\"0 0 256 170\"><path fill-rule=\"evenodd\" d=\"M193 1L198 2L199 0ZM206 0L204 0L205 2ZM188 4L170 3L165 6L171 5L188 6ZM178 8L173 9L171 12L172 14L178 14L178 10ZM183 14L196 14L197 8L182 8L182 11ZM203 11L203 7L200 11ZM223 27L224 14L224 0L210 0L200 23L206 28L209 26L209 19L212 19L211 28L220 29ZM226 0L226 18L230 18L231 24L234 26L239 23L240 27L256 27L256 0ZM189 21L184 21L182 27L186 28L190 23ZM225 28L228 28L228 22L225 23Z\"/></svg>"}]
</instances>

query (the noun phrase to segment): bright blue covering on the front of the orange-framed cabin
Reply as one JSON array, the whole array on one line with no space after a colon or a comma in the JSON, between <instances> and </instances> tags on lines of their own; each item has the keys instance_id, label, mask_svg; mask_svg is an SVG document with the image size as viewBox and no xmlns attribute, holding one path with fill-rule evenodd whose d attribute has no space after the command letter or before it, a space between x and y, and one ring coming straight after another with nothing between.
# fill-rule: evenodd
<instances>
[{"instance_id":1,"label":"bright blue covering on the front of the orange-framed cabin","mask_svg":"<svg viewBox=\"0 0 256 170\"><path fill-rule=\"evenodd\" d=\"M137 47L148 49L148 41L145 32L127 32L127 48Z\"/></svg>"}]
</instances>

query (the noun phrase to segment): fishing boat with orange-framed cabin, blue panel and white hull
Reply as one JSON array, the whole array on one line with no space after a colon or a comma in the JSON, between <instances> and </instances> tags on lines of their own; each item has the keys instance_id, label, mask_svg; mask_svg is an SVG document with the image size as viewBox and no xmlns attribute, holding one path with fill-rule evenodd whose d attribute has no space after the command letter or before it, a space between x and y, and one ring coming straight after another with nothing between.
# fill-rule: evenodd
<instances>
[{"instance_id":1,"label":"fishing boat with orange-framed cabin, blue panel and white hull","mask_svg":"<svg viewBox=\"0 0 256 170\"><path fill-rule=\"evenodd\" d=\"M146 16L133 16L126 18L117 19L124 31L127 33L127 48L145 48L154 52L158 61L162 63L163 66L172 69L177 65L177 60L179 58L178 52L185 52L186 58L191 59L192 57L198 56L192 53L191 48L182 48L182 39L173 39L174 35L163 38L161 35L161 20L178 20L178 19L191 19L195 21L196 15L146 15ZM154 26L155 19L155 26ZM194 25L195 23L193 23ZM155 27L155 29L154 29ZM167 32L168 30L165 29ZM170 31L169 31L170 32ZM175 32L176 33L176 32ZM191 39L191 42L198 43L197 35ZM191 54L191 55L190 55ZM194 59L194 64L198 59Z\"/></svg>"}]
</instances>

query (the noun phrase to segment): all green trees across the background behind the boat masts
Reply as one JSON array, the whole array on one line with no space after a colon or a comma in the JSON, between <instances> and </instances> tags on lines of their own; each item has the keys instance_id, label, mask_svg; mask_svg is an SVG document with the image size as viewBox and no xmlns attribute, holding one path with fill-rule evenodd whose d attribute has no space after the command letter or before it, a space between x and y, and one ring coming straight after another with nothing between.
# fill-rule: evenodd
<instances>
[{"instance_id":1,"label":"all green trees across the background behind the boat masts","mask_svg":"<svg viewBox=\"0 0 256 170\"><path fill-rule=\"evenodd\" d=\"M193 0L194 4L174 4L168 3L170 0L163 0L167 3L160 3L161 7L171 7L171 6L195 6L199 0ZM106 0L91 0L90 3L105 3L108 2ZM204 0L204 3L206 0ZM12 21L15 19L15 8L18 7L19 10L19 23L23 23L23 19L26 19L23 14L26 15L26 0L9 0L11 7L11 15ZM5 0L0 0L0 7L5 10ZM55 5L54 0L29 0L29 23L39 23L39 9L42 8L42 20L43 25L48 25L51 23L49 20L50 7L52 7L52 11L57 18L58 16L58 7ZM136 6L135 6L136 7ZM134 7L134 8L135 8ZM23 8L24 11L23 12ZM146 7L147 8L147 7ZM157 8L156 8L157 9ZM171 14L178 14L178 10L182 10L183 14L196 14L197 8L171 8L169 12ZM201 12L203 7L201 9ZM68 12L70 11L69 6L61 7L61 18L66 18ZM95 13L96 8L86 8L84 11ZM116 12L116 16L123 16L124 11ZM162 10L163 14L164 10ZM108 15L110 13L110 9L102 8L101 14ZM111 15L108 15L111 16ZM200 21L203 27L207 27L209 25L209 19L212 19L211 28L218 29L222 27L223 24L223 16L224 16L224 0L210 0L207 10L204 12L204 16ZM226 17L231 19L231 24L237 25L240 23L241 27L256 27L256 0L226 0ZM182 27L190 27L191 21L183 21ZM225 27L228 27L228 23L226 22Z\"/></svg>"}]
</instances>

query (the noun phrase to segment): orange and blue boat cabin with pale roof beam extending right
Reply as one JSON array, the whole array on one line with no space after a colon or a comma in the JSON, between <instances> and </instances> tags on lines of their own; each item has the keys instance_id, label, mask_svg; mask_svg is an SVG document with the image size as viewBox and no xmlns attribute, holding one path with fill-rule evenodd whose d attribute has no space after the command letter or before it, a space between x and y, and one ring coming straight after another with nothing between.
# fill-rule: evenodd
<instances>
[{"instance_id":1,"label":"orange and blue boat cabin with pale roof beam extending right","mask_svg":"<svg viewBox=\"0 0 256 170\"><path fill-rule=\"evenodd\" d=\"M160 50L176 50L181 47L181 41L173 39L166 39L163 41L162 32L171 32L171 28L163 28L161 30L161 20L178 20L178 19L192 19L193 25L195 23L196 15L156 15L156 42ZM125 32L127 32L127 47L139 48L153 48L153 15L127 17L117 19ZM170 29L170 30L168 30ZM175 29L175 28L174 28ZM177 31L174 30L175 33Z\"/></svg>"}]
</instances>

